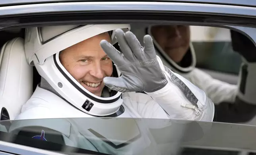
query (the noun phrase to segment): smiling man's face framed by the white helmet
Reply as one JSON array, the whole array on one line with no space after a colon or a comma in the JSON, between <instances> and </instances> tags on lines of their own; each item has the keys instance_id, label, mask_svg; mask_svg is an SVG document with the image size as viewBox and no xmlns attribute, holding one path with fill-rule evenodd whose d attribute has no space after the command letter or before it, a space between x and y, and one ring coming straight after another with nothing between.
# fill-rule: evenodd
<instances>
[{"instance_id":1,"label":"smiling man's face framed by the white helmet","mask_svg":"<svg viewBox=\"0 0 256 155\"><path fill-rule=\"evenodd\" d=\"M112 61L100 46L101 40L111 43L108 33L77 43L60 53L60 62L89 92L101 96L103 78L112 75Z\"/></svg>"}]
</instances>

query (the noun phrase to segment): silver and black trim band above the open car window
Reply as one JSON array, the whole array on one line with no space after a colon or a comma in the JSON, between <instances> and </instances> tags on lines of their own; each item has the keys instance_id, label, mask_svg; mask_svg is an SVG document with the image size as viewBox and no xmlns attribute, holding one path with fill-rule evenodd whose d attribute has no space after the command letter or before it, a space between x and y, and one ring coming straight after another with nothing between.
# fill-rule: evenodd
<instances>
[{"instance_id":1,"label":"silver and black trim band above the open car window","mask_svg":"<svg viewBox=\"0 0 256 155\"><path fill-rule=\"evenodd\" d=\"M193 4L193 5L191 5ZM189 21L196 25L256 26L256 8L175 2L77 2L0 7L0 29L56 24ZM2 9L3 8L3 9ZM49 9L50 8L50 9ZM148 17L149 16L149 17ZM163 17L162 17L163 16ZM124 19L126 19L124 21ZM186 23L186 22L184 22Z\"/></svg>"}]
</instances>

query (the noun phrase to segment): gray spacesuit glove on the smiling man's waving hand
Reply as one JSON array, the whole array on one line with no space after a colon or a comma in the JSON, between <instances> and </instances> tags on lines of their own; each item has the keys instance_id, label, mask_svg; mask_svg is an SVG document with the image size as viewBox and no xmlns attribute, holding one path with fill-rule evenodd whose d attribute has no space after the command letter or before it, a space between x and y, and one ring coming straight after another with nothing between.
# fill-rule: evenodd
<instances>
[{"instance_id":1,"label":"gray spacesuit glove on the smiling man's waving hand","mask_svg":"<svg viewBox=\"0 0 256 155\"><path fill-rule=\"evenodd\" d=\"M122 53L106 40L102 40L100 45L122 75L120 77L105 77L103 79L105 85L120 92L145 91L151 93L162 89L167 84L167 79L157 61L151 36L144 36L144 48L130 31L124 33L118 29L115 31L115 36Z\"/></svg>"}]
</instances>

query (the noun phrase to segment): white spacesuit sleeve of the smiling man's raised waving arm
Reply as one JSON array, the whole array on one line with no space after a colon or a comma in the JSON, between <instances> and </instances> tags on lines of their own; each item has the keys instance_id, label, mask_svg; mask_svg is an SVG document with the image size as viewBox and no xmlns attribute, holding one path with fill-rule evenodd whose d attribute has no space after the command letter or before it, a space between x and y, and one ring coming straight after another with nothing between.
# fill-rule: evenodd
<instances>
[{"instance_id":1,"label":"white spacesuit sleeve of the smiling man's raised waving arm","mask_svg":"<svg viewBox=\"0 0 256 155\"><path fill-rule=\"evenodd\" d=\"M157 58L160 59L160 58ZM175 74L159 60L168 83L162 89L147 93L172 119L213 121L214 104L206 93L190 81Z\"/></svg>"}]
</instances>

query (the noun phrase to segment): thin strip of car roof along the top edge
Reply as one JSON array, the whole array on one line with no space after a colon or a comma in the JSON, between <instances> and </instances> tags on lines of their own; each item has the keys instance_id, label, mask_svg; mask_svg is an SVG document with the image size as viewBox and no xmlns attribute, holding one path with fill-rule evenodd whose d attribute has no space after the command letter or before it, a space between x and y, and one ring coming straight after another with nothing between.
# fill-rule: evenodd
<instances>
[{"instance_id":1,"label":"thin strip of car roof along the top edge","mask_svg":"<svg viewBox=\"0 0 256 155\"><path fill-rule=\"evenodd\" d=\"M21 4L41 4L41 3L58 3L58 2L97 2L100 0L0 0L0 6L8 5L21 5ZM120 2L123 0L117 0ZM144 0L138 0L144 1ZM138 2L137 1L137 2ZM147 0L150 1L159 1L159 2L186 2L186 3L203 3L203 4L223 4L223 5L235 5L235 6L250 6L256 7L255 0Z\"/></svg>"}]
</instances>

